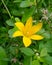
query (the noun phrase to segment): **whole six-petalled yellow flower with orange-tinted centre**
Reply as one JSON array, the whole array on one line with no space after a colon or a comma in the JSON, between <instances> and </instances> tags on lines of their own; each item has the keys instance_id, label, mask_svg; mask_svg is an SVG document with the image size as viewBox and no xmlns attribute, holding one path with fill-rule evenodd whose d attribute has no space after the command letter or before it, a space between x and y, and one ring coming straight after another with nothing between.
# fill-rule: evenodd
<instances>
[{"instance_id":1,"label":"whole six-petalled yellow flower with orange-tinted centre","mask_svg":"<svg viewBox=\"0 0 52 65\"><path fill-rule=\"evenodd\" d=\"M14 32L13 37L23 36L23 43L25 47L28 47L31 44L31 39L43 39L42 36L36 34L42 28L42 23L32 26L32 17L27 20L25 25L22 22L16 22L15 25L19 30Z\"/></svg>"}]
</instances>

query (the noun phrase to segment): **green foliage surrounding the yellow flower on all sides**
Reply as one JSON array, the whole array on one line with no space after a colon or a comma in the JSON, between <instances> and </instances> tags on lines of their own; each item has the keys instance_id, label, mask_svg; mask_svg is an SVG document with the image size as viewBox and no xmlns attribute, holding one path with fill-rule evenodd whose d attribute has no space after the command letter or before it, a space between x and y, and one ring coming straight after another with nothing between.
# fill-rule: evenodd
<instances>
[{"instance_id":1,"label":"green foliage surrounding the yellow flower on all sides","mask_svg":"<svg viewBox=\"0 0 52 65\"><path fill-rule=\"evenodd\" d=\"M25 24L31 16L33 24L43 23L37 34L44 39L26 48L12 34L15 22ZM0 0L0 65L52 65L52 0Z\"/></svg>"}]
</instances>

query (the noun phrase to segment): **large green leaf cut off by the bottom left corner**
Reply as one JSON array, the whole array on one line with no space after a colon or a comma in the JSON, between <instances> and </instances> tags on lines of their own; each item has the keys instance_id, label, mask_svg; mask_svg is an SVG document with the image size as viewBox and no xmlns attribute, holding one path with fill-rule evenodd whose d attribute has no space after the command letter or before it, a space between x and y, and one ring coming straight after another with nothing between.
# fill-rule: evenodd
<instances>
[{"instance_id":1,"label":"large green leaf cut off by the bottom left corner","mask_svg":"<svg viewBox=\"0 0 52 65\"><path fill-rule=\"evenodd\" d=\"M0 65L7 65L7 61L5 61L6 57L4 48L0 46Z\"/></svg>"}]
</instances>

